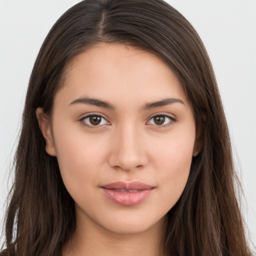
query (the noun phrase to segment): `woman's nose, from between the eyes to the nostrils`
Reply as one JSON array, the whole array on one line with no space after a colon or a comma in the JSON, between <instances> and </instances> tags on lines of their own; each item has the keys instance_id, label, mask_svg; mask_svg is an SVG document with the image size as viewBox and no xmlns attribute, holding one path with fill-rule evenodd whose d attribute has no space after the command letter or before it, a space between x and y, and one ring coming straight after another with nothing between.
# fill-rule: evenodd
<instances>
[{"instance_id":1,"label":"woman's nose, from between the eyes to the nostrils","mask_svg":"<svg viewBox=\"0 0 256 256\"><path fill-rule=\"evenodd\" d=\"M144 167L148 162L144 140L136 125L120 127L111 139L109 165L125 171Z\"/></svg>"}]
</instances>

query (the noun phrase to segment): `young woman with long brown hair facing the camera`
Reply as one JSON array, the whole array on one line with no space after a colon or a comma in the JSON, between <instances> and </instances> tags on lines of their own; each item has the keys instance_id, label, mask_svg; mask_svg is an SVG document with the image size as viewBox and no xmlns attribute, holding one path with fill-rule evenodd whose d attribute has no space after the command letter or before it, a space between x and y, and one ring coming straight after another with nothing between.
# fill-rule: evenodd
<instances>
[{"instance_id":1,"label":"young woman with long brown hair facing the camera","mask_svg":"<svg viewBox=\"0 0 256 256\"><path fill-rule=\"evenodd\" d=\"M160 0L86 0L29 81L1 255L251 255L197 33Z\"/></svg>"}]
</instances>

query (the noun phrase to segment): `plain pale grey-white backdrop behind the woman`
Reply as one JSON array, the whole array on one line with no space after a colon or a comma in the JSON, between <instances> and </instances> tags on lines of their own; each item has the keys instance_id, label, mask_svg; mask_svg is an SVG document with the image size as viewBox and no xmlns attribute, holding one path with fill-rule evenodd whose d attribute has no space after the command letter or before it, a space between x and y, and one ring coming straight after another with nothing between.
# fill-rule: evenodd
<instances>
[{"instance_id":1,"label":"plain pale grey-white backdrop behind the woman","mask_svg":"<svg viewBox=\"0 0 256 256\"><path fill-rule=\"evenodd\" d=\"M33 62L50 27L77 2L0 0L0 219ZM256 0L167 2L196 28L212 60L246 199L243 215L255 244Z\"/></svg>"}]
</instances>

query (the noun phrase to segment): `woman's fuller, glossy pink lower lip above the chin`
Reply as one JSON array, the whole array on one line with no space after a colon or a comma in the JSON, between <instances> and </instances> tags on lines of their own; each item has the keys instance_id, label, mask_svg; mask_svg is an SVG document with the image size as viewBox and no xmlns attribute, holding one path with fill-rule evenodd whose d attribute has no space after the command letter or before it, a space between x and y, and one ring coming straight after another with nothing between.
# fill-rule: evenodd
<instances>
[{"instance_id":1,"label":"woman's fuller, glossy pink lower lip above the chin","mask_svg":"<svg viewBox=\"0 0 256 256\"><path fill-rule=\"evenodd\" d=\"M101 190L111 201L120 205L131 206L142 202L152 193L153 188L144 189L137 192L119 192L104 187L101 187Z\"/></svg>"}]
</instances>

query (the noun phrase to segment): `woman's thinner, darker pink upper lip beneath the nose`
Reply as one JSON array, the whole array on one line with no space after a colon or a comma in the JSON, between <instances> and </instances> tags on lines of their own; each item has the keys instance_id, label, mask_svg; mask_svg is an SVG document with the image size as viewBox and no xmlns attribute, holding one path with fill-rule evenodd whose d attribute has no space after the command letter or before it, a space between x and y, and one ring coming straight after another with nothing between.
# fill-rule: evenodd
<instances>
[{"instance_id":1,"label":"woman's thinner, darker pink upper lip beneath the nose","mask_svg":"<svg viewBox=\"0 0 256 256\"><path fill-rule=\"evenodd\" d=\"M126 190L143 190L143 189L154 188L154 186L145 184L140 181L132 181L132 182L116 181L116 182L102 185L101 187L104 187L107 189L126 189Z\"/></svg>"}]
</instances>

